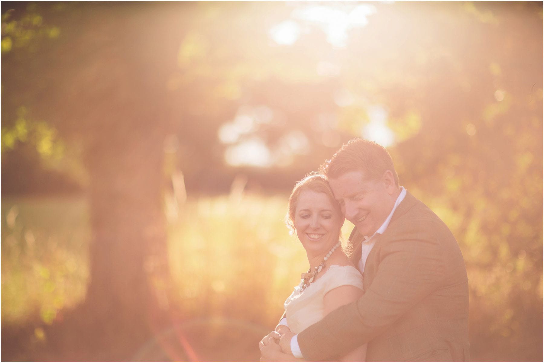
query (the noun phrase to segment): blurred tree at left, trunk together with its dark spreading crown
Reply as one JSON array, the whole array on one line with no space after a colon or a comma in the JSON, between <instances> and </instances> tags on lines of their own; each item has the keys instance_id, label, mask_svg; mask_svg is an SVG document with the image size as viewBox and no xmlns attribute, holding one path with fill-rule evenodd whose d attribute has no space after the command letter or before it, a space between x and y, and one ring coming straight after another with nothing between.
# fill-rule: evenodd
<instances>
[{"instance_id":1,"label":"blurred tree at left, trunk together with its dark spreading crown","mask_svg":"<svg viewBox=\"0 0 544 363\"><path fill-rule=\"evenodd\" d=\"M51 351L36 360L129 360L169 324L163 143L183 106L167 85L194 5L13 5L15 20L41 11L61 36L36 40L39 52L2 54L3 119L32 106L33 117L81 148L89 176L86 298L46 327Z\"/></svg>"}]
</instances>

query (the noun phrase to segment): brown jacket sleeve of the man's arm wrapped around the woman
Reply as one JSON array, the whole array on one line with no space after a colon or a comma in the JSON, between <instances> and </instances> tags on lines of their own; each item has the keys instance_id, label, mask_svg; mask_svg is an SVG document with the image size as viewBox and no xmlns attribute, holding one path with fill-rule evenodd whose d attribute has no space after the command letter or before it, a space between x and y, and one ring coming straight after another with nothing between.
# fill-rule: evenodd
<instances>
[{"instance_id":1,"label":"brown jacket sleeve of the man's arm wrapped around the woman","mask_svg":"<svg viewBox=\"0 0 544 363\"><path fill-rule=\"evenodd\" d=\"M432 233L436 229L425 222L425 229L418 228L422 224L417 221L397 226L402 233L391 233L378 241L382 242L378 271L372 284L365 286L364 295L298 335L306 360L323 361L369 342L440 286L444 276L442 247Z\"/></svg>"}]
</instances>

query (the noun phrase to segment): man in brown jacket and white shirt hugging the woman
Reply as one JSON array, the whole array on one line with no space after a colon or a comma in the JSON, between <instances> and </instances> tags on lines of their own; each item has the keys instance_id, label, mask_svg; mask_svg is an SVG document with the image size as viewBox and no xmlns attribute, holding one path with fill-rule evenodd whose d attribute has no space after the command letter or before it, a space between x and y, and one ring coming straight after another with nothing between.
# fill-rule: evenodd
<instances>
[{"instance_id":1,"label":"man in brown jacket and white shirt hugging the woman","mask_svg":"<svg viewBox=\"0 0 544 363\"><path fill-rule=\"evenodd\" d=\"M375 142L351 140L322 170L355 224L349 242L364 294L298 335L269 336L293 360L337 360L364 343L367 361L469 360L467 272L446 224L399 186Z\"/></svg>"}]
</instances>

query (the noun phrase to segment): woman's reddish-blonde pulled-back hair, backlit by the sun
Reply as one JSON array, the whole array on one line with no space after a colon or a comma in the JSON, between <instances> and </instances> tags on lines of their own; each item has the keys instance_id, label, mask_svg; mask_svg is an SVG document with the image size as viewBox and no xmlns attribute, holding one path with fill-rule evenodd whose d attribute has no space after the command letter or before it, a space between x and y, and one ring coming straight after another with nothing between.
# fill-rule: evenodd
<instances>
[{"instance_id":1,"label":"woman's reddish-blonde pulled-back hair, backlit by the sun","mask_svg":"<svg viewBox=\"0 0 544 363\"><path fill-rule=\"evenodd\" d=\"M338 204L338 202L336 202L335 196L332 194L331 187L329 186L329 182L327 182L325 176L318 172L311 172L304 179L296 182L295 187L291 192L291 196L289 197L289 201L287 204L287 215L285 216L285 223L287 224L287 228L289 228L290 235L293 235L295 233L294 221L296 202L298 201L300 193L303 190L312 190L318 193L325 193L327 197L329 197L333 208L335 208L335 212L338 213L340 218L344 217L340 205Z\"/></svg>"}]
</instances>

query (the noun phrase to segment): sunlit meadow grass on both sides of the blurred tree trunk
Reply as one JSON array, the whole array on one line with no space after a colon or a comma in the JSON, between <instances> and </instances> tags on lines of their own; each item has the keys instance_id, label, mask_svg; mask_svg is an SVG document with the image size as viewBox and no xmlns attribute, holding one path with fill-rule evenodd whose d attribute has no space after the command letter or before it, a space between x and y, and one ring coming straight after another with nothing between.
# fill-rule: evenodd
<instances>
[{"instance_id":1,"label":"sunlit meadow grass on both sides of the blurred tree trunk","mask_svg":"<svg viewBox=\"0 0 544 363\"><path fill-rule=\"evenodd\" d=\"M189 198L168 227L173 302L190 316L275 326L308 268L283 220L287 195ZM347 239L353 225L343 227ZM89 279L83 197L2 198L2 323L51 323Z\"/></svg>"}]
</instances>

